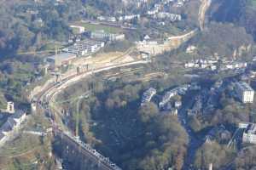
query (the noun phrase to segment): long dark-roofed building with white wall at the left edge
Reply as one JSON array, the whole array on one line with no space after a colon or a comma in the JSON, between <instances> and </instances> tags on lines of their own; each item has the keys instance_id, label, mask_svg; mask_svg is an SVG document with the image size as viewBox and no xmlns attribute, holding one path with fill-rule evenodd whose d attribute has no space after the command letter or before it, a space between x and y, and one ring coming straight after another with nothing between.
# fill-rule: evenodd
<instances>
[{"instance_id":1,"label":"long dark-roofed building with white wall at the left edge","mask_svg":"<svg viewBox=\"0 0 256 170\"><path fill-rule=\"evenodd\" d=\"M0 127L0 144L3 144L12 133L19 129L20 124L26 120L26 112L16 111L13 115L9 116L7 121Z\"/></svg>"}]
</instances>

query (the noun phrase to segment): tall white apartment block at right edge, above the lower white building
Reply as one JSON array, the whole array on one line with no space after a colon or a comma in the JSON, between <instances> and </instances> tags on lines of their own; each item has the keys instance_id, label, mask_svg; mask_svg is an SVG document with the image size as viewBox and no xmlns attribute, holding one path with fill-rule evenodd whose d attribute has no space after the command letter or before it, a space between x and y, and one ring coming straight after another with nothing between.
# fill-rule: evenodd
<instances>
[{"instance_id":1,"label":"tall white apartment block at right edge, above the lower white building","mask_svg":"<svg viewBox=\"0 0 256 170\"><path fill-rule=\"evenodd\" d=\"M246 82L236 82L235 89L242 103L253 103L254 90Z\"/></svg>"}]
</instances>

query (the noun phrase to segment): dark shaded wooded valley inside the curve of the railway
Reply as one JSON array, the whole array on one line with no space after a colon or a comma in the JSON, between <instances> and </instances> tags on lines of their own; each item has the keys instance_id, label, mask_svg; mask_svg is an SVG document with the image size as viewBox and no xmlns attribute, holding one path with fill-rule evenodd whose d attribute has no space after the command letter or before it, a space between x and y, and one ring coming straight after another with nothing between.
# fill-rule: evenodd
<instances>
[{"instance_id":1,"label":"dark shaded wooded valley inside the curve of the railway","mask_svg":"<svg viewBox=\"0 0 256 170\"><path fill-rule=\"evenodd\" d=\"M154 103L139 105L148 83L127 84L121 81L125 77L114 83L102 82L101 79L87 79L86 83L78 83L60 96L59 100L70 99L70 96L79 96L88 89L94 89L96 93L80 101L80 138L125 169L181 169L188 144L187 134L177 116L162 115ZM158 83L159 88L170 88L178 82L160 79L155 84ZM90 88L92 86L94 88ZM76 105L71 101L62 105L71 111L68 125L73 130L76 127Z\"/></svg>"}]
</instances>

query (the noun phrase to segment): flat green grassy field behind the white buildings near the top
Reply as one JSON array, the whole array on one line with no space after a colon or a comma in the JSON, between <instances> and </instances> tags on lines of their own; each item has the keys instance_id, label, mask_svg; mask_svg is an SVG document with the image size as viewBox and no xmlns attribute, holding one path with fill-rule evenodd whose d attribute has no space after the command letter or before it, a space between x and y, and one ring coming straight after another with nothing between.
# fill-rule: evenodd
<instances>
[{"instance_id":1,"label":"flat green grassy field behind the white buildings near the top","mask_svg":"<svg viewBox=\"0 0 256 170\"><path fill-rule=\"evenodd\" d=\"M105 32L108 32L108 33L123 32L121 28L114 27L114 26L102 26L102 25L96 25L96 24L90 24L90 23L84 23L84 22L78 22L78 23L75 23L75 25L84 26L86 31L104 30Z\"/></svg>"}]
</instances>

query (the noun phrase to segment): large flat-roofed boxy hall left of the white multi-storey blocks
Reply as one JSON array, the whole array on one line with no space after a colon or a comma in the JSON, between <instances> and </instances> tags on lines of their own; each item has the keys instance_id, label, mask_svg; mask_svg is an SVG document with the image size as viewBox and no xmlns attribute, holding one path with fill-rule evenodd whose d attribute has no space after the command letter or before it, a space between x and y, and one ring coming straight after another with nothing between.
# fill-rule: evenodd
<instances>
[{"instance_id":1,"label":"large flat-roofed boxy hall left of the white multi-storey blocks","mask_svg":"<svg viewBox=\"0 0 256 170\"><path fill-rule=\"evenodd\" d=\"M56 68L61 65L69 65L76 57L76 54L61 53L47 57L46 61L49 63L50 68Z\"/></svg>"}]
</instances>

